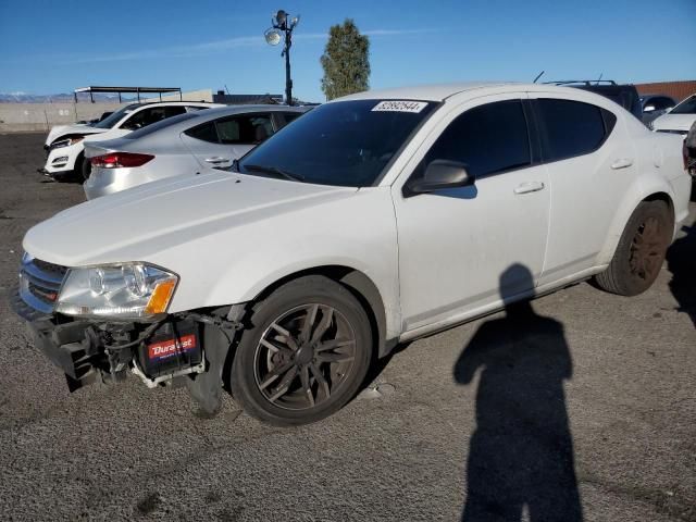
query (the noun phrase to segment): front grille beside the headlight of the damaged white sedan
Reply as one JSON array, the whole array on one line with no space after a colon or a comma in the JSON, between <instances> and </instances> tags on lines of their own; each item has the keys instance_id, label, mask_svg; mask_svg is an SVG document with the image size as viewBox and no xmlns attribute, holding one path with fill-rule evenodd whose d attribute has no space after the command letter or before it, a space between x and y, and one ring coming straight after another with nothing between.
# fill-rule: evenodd
<instances>
[{"instance_id":1,"label":"front grille beside the headlight of the damaged white sedan","mask_svg":"<svg viewBox=\"0 0 696 522\"><path fill-rule=\"evenodd\" d=\"M39 259L24 259L20 271L20 297L41 313L52 313L67 269Z\"/></svg>"}]
</instances>

